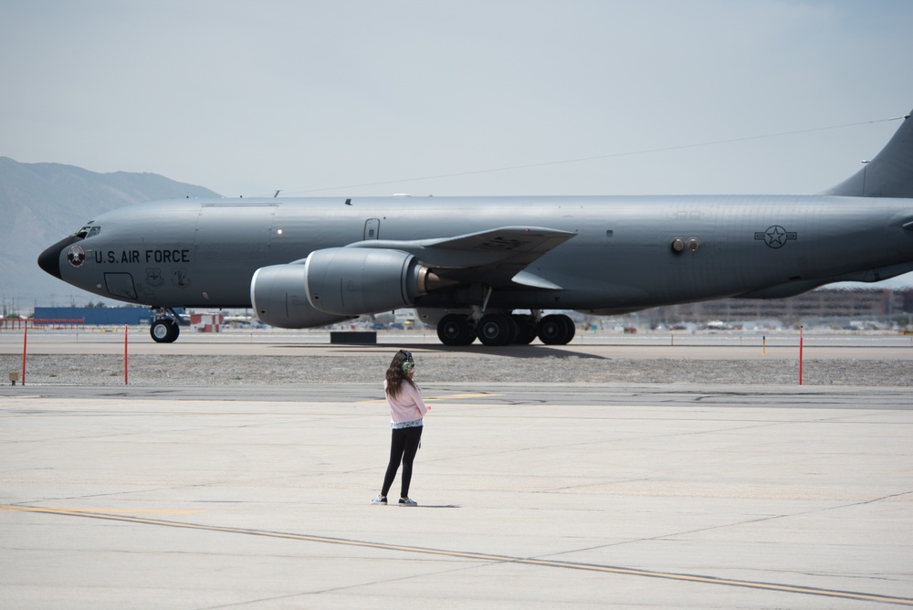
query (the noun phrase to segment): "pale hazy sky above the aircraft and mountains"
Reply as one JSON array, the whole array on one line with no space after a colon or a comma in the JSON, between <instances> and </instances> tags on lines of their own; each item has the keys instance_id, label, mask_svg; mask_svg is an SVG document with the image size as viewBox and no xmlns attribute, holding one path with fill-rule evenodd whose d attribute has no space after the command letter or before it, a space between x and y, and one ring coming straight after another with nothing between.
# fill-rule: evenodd
<instances>
[{"instance_id":1,"label":"pale hazy sky above the aircraft and mountains","mask_svg":"<svg viewBox=\"0 0 913 610\"><path fill-rule=\"evenodd\" d=\"M908 0L3 0L0 155L230 196L815 193L913 108L911 24Z\"/></svg>"}]
</instances>

